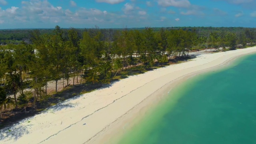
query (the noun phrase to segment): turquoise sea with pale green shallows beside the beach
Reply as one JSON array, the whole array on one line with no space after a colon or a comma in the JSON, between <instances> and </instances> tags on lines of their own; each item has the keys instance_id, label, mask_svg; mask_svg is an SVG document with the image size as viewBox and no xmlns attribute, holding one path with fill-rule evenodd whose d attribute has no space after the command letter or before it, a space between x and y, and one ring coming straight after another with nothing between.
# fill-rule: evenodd
<instances>
[{"instance_id":1,"label":"turquoise sea with pale green shallows beside the beach","mask_svg":"<svg viewBox=\"0 0 256 144\"><path fill-rule=\"evenodd\" d=\"M118 144L256 144L256 55L188 79Z\"/></svg>"}]
</instances>

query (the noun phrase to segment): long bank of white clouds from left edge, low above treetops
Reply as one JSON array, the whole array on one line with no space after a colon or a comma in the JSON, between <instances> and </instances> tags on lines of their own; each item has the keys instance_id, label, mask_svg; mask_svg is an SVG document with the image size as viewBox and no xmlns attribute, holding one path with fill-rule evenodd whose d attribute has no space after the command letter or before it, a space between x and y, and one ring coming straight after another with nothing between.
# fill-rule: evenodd
<instances>
[{"instance_id":1,"label":"long bank of white clouds from left edge, low above treetops","mask_svg":"<svg viewBox=\"0 0 256 144\"><path fill-rule=\"evenodd\" d=\"M68 0L70 4L72 1L75 0ZM143 27L153 19L149 18L146 10L136 8L135 4L131 1L123 4L120 13L83 7L69 10L58 4L53 5L49 0L23 0L19 8L0 8L0 24L5 26L4 28L52 28L56 24L61 27L90 27L95 24L100 27L112 27L124 24L134 26L135 23ZM8 26L9 24L12 26Z\"/></svg>"}]
</instances>

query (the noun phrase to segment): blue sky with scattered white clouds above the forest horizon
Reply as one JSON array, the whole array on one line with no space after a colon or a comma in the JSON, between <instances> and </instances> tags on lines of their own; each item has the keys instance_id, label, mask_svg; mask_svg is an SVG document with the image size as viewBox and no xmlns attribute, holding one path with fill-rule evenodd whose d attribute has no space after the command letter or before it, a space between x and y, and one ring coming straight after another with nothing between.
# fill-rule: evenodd
<instances>
[{"instance_id":1,"label":"blue sky with scattered white clouds above the forest horizon","mask_svg":"<svg viewBox=\"0 0 256 144\"><path fill-rule=\"evenodd\" d=\"M0 29L256 27L256 0L0 0Z\"/></svg>"}]
</instances>

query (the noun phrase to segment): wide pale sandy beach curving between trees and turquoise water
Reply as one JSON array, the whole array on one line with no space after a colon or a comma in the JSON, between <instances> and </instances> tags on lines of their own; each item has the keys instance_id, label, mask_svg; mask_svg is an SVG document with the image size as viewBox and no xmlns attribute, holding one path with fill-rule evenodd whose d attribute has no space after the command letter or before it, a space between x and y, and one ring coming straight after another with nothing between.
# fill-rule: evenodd
<instances>
[{"instance_id":1,"label":"wide pale sandy beach curving between trees and turquoise water","mask_svg":"<svg viewBox=\"0 0 256 144\"><path fill-rule=\"evenodd\" d=\"M166 90L184 78L253 52L256 47L202 54L192 61L130 76L108 88L66 100L42 114L0 130L0 143L104 143L110 137L121 135L124 126L132 125L134 117L143 116L150 106L164 97Z\"/></svg>"}]
</instances>

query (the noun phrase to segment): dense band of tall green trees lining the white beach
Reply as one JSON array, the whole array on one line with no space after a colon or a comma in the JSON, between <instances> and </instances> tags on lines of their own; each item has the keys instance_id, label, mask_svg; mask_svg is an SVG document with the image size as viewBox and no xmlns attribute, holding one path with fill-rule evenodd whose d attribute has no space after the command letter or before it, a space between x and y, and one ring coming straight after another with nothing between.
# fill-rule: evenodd
<instances>
[{"instance_id":1,"label":"dense band of tall green trees lining the white beach","mask_svg":"<svg viewBox=\"0 0 256 144\"><path fill-rule=\"evenodd\" d=\"M0 112L8 104L26 110L47 96L47 84L63 80L74 85L78 76L86 82L110 83L118 72L138 64L150 68L171 58L202 48L244 48L256 42L254 29L200 33L196 28L61 29L30 30L28 40L0 49ZM72 81L70 82L70 78ZM64 79L67 84L64 84ZM33 93L24 92L25 88ZM19 96L16 96L19 93ZM10 97L13 95L13 97ZM1 114L0 114L1 116Z\"/></svg>"}]
</instances>

